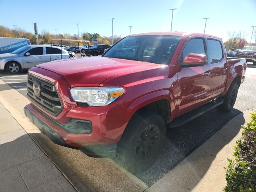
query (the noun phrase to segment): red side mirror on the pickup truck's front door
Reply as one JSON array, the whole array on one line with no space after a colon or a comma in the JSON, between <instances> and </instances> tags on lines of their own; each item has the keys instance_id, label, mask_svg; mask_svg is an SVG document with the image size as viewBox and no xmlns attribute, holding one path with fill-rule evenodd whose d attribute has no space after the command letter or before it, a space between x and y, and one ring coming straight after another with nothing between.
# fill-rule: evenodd
<instances>
[{"instance_id":1,"label":"red side mirror on the pickup truck's front door","mask_svg":"<svg viewBox=\"0 0 256 192\"><path fill-rule=\"evenodd\" d=\"M187 54L183 62L180 63L182 67L196 67L207 64L207 56L204 54L190 53Z\"/></svg>"}]
</instances>

